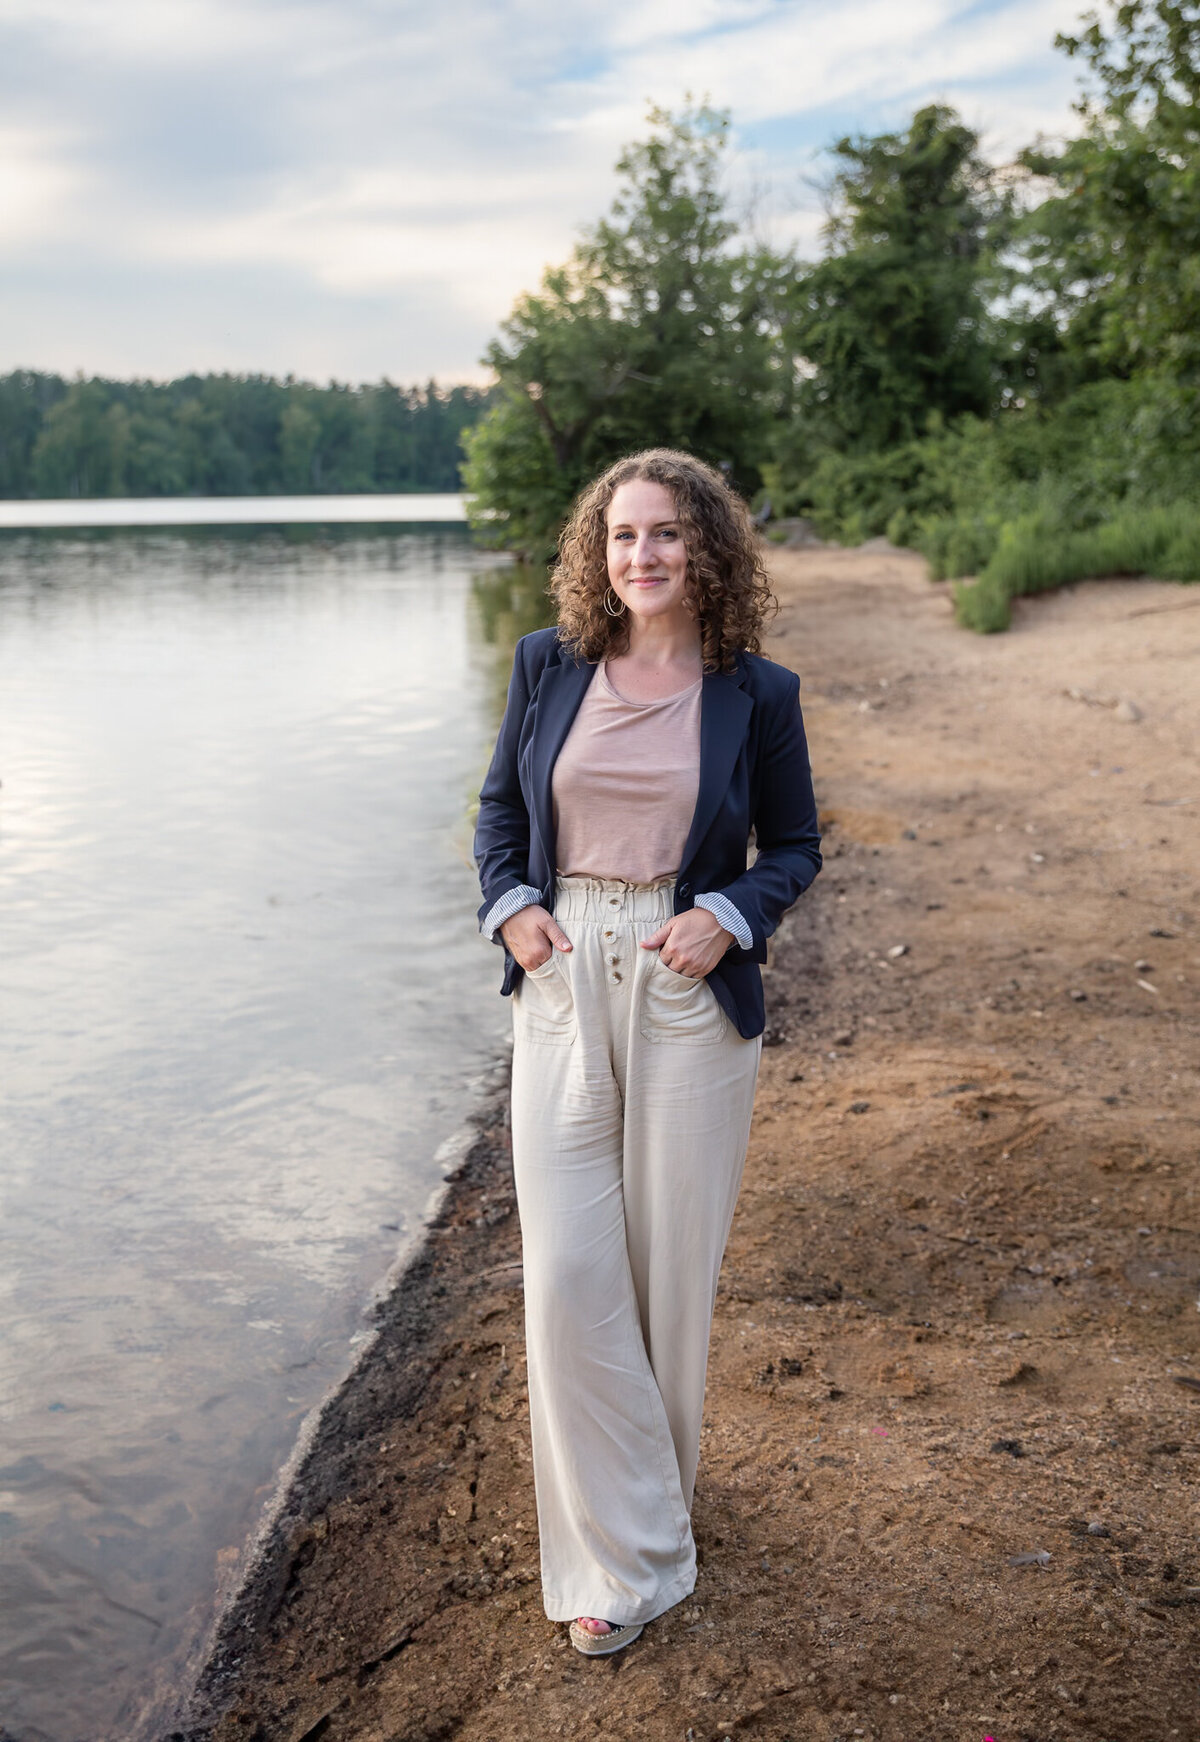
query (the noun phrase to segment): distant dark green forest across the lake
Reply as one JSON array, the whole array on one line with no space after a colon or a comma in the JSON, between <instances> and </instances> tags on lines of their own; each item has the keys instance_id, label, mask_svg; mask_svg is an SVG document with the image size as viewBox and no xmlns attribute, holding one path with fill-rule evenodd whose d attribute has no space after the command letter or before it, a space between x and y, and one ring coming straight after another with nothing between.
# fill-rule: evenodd
<instances>
[{"instance_id":1,"label":"distant dark green forest across the lake","mask_svg":"<svg viewBox=\"0 0 1200 1742\"><path fill-rule=\"evenodd\" d=\"M481 387L0 376L0 496L277 496L460 488Z\"/></svg>"}]
</instances>

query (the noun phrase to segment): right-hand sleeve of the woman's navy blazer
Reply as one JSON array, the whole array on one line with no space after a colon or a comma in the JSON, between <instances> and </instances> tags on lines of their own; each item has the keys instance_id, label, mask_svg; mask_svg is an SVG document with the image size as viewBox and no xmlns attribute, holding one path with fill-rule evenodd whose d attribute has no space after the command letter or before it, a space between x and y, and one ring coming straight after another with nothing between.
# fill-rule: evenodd
<instances>
[{"instance_id":1,"label":"right-hand sleeve of the woman's navy blazer","mask_svg":"<svg viewBox=\"0 0 1200 1742\"><path fill-rule=\"evenodd\" d=\"M758 810L751 819L758 859L719 890L745 916L758 962L766 960L766 939L820 871L817 798L799 711L799 678L794 672L787 678L784 704L763 733Z\"/></svg>"}]
</instances>

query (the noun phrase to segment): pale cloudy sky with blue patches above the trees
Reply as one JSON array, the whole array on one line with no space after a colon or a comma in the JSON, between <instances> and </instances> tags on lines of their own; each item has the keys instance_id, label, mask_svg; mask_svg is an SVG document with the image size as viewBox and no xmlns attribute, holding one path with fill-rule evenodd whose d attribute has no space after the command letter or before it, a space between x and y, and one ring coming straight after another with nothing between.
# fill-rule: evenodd
<instances>
[{"instance_id":1,"label":"pale cloudy sky with blue patches above the trees","mask_svg":"<svg viewBox=\"0 0 1200 1742\"><path fill-rule=\"evenodd\" d=\"M1085 0L0 0L0 371L482 381L646 106L819 253L846 132L1071 131ZM827 160L826 160L827 162Z\"/></svg>"}]
</instances>

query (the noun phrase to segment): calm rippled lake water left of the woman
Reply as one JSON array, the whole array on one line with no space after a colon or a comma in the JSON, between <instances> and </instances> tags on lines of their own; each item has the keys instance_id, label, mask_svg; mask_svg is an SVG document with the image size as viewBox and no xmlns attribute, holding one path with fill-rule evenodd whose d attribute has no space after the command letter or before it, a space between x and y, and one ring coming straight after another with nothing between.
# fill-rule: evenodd
<instances>
[{"instance_id":1,"label":"calm rippled lake water left of the woman","mask_svg":"<svg viewBox=\"0 0 1200 1742\"><path fill-rule=\"evenodd\" d=\"M505 1030L486 563L460 531L0 540L21 1742L120 1735L204 1618Z\"/></svg>"}]
</instances>

